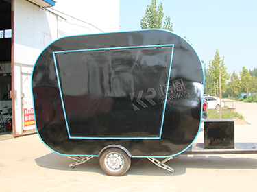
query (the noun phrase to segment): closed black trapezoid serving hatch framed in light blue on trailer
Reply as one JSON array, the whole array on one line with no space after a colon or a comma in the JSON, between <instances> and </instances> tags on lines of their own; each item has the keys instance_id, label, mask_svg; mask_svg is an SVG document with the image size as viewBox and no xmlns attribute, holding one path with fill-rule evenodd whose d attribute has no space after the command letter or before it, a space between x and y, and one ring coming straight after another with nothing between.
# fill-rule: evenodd
<instances>
[{"instance_id":1,"label":"closed black trapezoid serving hatch framed in light blue on trailer","mask_svg":"<svg viewBox=\"0 0 257 192\"><path fill-rule=\"evenodd\" d=\"M57 53L56 64L71 136L158 137L161 95L167 84L171 47ZM147 93L148 88L154 89ZM138 94L140 100L130 98ZM156 94L155 94L156 95ZM134 105L139 104L134 111ZM142 106L140 106L143 105Z\"/></svg>"}]
</instances>

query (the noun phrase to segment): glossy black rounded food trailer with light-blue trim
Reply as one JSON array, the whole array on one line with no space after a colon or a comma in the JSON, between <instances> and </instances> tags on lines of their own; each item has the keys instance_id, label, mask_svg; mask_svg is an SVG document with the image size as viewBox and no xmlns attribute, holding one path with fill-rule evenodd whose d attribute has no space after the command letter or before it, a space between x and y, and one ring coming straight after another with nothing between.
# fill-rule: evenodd
<instances>
[{"instance_id":1,"label":"glossy black rounded food trailer with light-blue trim","mask_svg":"<svg viewBox=\"0 0 257 192\"><path fill-rule=\"evenodd\" d=\"M204 70L193 47L173 32L58 39L34 65L32 94L40 139L74 159L70 167L99 157L103 171L121 176L130 158L147 158L172 173L165 162L178 154L242 152L192 145L201 128ZM225 135L221 145L234 146L228 131L234 122L210 124L219 130L210 128L211 140ZM256 153L252 146L247 152Z\"/></svg>"}]
</instances>

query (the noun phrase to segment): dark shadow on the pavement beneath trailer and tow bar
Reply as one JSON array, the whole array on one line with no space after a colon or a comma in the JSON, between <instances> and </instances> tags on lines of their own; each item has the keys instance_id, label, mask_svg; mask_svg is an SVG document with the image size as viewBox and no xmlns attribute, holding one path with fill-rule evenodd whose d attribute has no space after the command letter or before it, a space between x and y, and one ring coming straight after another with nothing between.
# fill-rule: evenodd
<instances>
[{"instance_id":1,"label":"dark shadow on the pavement beneath trailer and tow bar","mask_svg":"<svg viewBox=\"0 0 257 192\"><path fill-rule=\"evenodd\" d=\"M174 173L157 167L147 158L132 158L130 170L125 175L147 175L147 176L178 176L186 173L186 169L257 169L256 158L225 158L224 156L180 155L166 164L175 169ZM255 156L254 156L255 157ZM69 167L74 160L61 156L54 152L35 159L36 164L47 169L58 169L64 171L86 171L105 174L99 166L99 158L92 158L88 162L77 165L74 169Z\"/></svg>"}]
</instances>

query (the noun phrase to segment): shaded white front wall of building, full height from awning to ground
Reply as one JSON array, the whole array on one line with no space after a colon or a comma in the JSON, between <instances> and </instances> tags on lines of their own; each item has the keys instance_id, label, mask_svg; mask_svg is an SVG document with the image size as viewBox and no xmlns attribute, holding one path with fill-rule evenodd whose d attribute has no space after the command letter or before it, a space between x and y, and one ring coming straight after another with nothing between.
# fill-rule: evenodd
<instances>
[{"instance_id":1,"label":"shaded white front wall of building, full height from awning to ground","mask_svg":"<svg viewBox=\"0 0 257 192\"><path fill-rule=\"evenodd\" d=\"M16 134L35 126L24 126L24 108L33 108L30 89L32 68L42 49L58 34L55 15L25 0L14 0L14 90ZM13 75L13 74L12 74Z\"/></svg>"}]
</instances>

